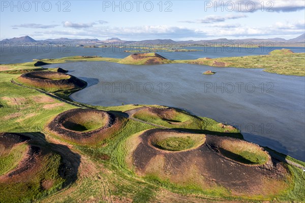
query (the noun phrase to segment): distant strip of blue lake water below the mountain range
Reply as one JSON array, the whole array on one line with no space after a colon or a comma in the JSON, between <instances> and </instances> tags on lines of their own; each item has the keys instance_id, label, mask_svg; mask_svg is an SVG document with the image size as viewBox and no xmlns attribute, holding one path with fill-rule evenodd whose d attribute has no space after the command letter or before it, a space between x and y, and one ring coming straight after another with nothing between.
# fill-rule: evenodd
<instances>
[{"instance_id":1,"label":"distant strip of blue lake water below the mountain range","mask_svg":"<svg viewBox=\"0 0 305 203\"><path fill-rule=\"evenodd\" d=\"M305 47L261 47L261 48L212 48L212 47L182 47L200 49L189 52L158 52L170 60L198 59L200 57L229 57L245 55L261 55L275 49L289 48L294 52L305 52ZM103 57L124 58L131 53L123 52L129 48L82 48L82 47L42 47L37 46L0 46L0 64L32 62L33 59L56 59L74 55L98 55Z\"/></svg>"}]
</instances>

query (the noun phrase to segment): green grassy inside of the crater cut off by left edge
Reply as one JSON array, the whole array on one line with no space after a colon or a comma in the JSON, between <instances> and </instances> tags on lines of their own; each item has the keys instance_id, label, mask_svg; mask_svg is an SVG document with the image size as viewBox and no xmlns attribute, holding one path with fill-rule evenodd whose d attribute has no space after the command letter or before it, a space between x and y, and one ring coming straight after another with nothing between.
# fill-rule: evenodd
<instances>
[{"instance_id":1,"label":"green grassy inside of the crater cut off by left edge","mask_svg":"<svg viewBox=\"0 0 305 203\"><path fill-rule=\"evenodd\" d=\"M25 143L17 144L9 152L0 153L0 176L13 170L18 165L25 155L26 146Z\"/></svg>"}]
</instances>

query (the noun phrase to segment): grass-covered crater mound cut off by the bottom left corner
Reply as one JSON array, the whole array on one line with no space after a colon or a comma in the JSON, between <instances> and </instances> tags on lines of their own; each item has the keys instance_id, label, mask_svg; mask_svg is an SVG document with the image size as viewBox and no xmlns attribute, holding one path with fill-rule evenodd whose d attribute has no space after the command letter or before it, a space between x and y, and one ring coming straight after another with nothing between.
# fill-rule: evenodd
<instances>
[{"instance_id":1,"label":"grass-covered crater mound cut off by the bottom left corner","mask_svg":"<svg viewBox=\"0 0 305 203\"><path fill-rule=\"evenodd\" d=\"M0 202L30 202L63 186L59 154L16 133L1 133L0 145Z\"/></svg>"}]
</instances>

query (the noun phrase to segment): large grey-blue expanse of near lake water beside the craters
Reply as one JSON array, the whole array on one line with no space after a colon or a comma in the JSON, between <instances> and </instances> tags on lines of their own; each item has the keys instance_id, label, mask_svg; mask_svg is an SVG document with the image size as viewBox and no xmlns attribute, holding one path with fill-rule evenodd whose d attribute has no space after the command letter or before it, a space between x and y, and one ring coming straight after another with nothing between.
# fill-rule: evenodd
<instances>
[{"instance_id":1,"label":"large grey-blue expanse of near lake water beside the craters","mask_svg":"<svg viewBox=\"0 0 305 203\"><path fill-rule=\"evenodd\" d=\"M172 53L168 53L172 54ZM160 104L239 128L246 140L305 161L305 77L191 64L53 64L88 82L71 95L102 106ZM211 70L215 75L203 75Z\"/></svg>"}]
</instances>

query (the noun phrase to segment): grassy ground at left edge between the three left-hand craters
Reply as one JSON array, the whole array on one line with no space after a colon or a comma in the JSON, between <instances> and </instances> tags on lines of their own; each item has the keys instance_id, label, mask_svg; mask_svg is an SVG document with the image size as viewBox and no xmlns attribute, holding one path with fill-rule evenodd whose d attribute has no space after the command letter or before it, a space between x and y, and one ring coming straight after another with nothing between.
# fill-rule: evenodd
<instances>
[{"instance_id":1,"label":"grassy ground at left edge between the three left-hand craters","mask_svg":"<svg viewBox=\"0 0 305 203\"><path fill-rule=\"evenodd\" d=\"M72 108L70 104L59 102L35 90L23 88L10 82L18 75L0 74L0 108L1 132L37 132L43 129L44 124L55 115ZM35 99L35 98L38 99ZM49 101L41 101L40 97L48 98ZM6 98L22 98L20 103L11 103ZM54 107L46 108L46 105ZM57 105L60 104L60 105ZM39 109L39 110L38 110Z\"/></svg>"}]
</instances>

